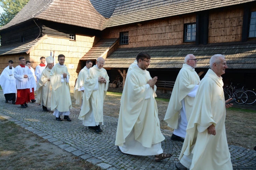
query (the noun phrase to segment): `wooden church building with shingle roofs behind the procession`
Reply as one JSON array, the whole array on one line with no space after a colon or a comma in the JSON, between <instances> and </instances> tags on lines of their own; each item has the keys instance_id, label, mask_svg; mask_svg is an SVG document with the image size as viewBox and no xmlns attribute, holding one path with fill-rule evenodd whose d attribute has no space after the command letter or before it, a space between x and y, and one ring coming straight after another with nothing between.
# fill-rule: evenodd
<instances>
[{"instance_id":1,"label":"wooden church building with shingle roofs behind the procession","mask_svg":"<svg viewBox=\"0 0 256 170\"><path fill-rule=\"evenodd\" d=\"M24 56L35 68L54 52L66 56L74 86L85 62L101 56L112 83L145 51L152 77L175 81L187 54L200 78L223 54L224 83L256 87L256 0L30 0L0 35L0 73L9 60Z\"/></svg>"}]
</instances>

